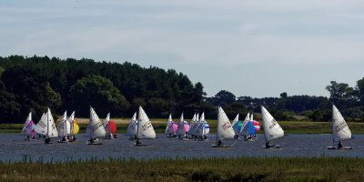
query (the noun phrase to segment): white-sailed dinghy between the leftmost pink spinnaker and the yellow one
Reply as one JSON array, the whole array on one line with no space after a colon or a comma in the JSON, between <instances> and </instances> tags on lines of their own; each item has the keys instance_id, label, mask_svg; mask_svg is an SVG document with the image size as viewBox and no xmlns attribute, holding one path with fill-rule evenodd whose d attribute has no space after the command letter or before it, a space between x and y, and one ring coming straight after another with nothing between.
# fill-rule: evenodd
<instances>
[{"instance_id":1,"label":"white-sailed dinghy between the leftmost pink spinnaker and the yellow one","mask_svg":"<svg viewBox=\"0 0 364 182\"><path fill-rule=\"evenodd\" d=\"M45 144L51 144L51 137L58 137L55 120L53 119L51 110L49 108L35 126L35 132L45 135Z\"/></svg>"}]
</instances>

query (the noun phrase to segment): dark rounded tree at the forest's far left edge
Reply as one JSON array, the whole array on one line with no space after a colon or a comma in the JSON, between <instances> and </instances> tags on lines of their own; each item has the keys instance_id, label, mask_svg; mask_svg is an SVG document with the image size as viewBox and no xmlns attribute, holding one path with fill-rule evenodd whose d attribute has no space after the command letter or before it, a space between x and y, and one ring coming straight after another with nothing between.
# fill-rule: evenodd
<instances>
[{"instance_id":1,"label":"dark rounded tree at the forest's far left edge","mask_svg":"<svg viewBox=\"0 0 364 182\"><path fill-rule=\"evenodd\" d=\"M36 69L25 66L13 66L5 70L1 76L4 83L0 112L2 121L22 123L30 111L40 116L46 107L61 106L61 96L51 88L45 76L41 76Z\"/></svg>"}]
</instances>

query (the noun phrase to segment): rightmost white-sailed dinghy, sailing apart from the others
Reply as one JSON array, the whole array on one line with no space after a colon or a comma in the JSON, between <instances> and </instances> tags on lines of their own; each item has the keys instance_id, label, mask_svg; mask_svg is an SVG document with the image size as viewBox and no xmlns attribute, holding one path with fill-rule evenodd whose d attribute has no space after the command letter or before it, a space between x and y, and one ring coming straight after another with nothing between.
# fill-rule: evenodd
<instances>
[{"instance_id":1,"label":"rightmost white-sailed dinghy, sailing apart from the others","mask_svg":"<svg viewBox=\"0 0 364 182\"><path fill-rule=\"evenodd\" d=\"M328 147L329 149L352 149L352 147L343 147L342 141L351 139L351 132L347 122L339 109L332 105L332 147ZM338 147L335 147L335 143L338 142Z\"/></svg>"}]
</instances>

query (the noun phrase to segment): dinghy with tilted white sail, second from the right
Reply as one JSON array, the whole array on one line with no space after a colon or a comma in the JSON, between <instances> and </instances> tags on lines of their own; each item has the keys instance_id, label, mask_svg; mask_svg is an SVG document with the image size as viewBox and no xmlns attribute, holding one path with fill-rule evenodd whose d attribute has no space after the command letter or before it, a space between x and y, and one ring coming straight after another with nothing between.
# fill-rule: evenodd
<instances>
[{"instance_id":1,"label":"dinghy with tilted white sail, second from the right","mask_svg":"<svg viewBox=\"0 0 364 182\"><path fill-rule=\"evenodd\" d=\"M269 145L269 142L274 139L284 136L284 131L283 131L282 127L279 126L276 119L274 119L274 117L270 115L270 113L264 106L261 106L261 113L262 113L264 136L266 138L266 146L264 146L264 147L266 147L266 148L280 147L278 145L277 146Z\"/></svg>"}]
</instances>

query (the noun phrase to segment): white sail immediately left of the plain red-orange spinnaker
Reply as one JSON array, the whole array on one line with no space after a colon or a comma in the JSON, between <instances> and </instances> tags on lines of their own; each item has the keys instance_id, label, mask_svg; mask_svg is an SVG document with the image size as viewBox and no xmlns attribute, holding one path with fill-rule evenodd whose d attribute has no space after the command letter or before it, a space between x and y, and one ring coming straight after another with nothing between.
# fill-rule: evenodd
<instances>
[{"instance_id":1,"label":"white sail immediately left of the plain red-orange spinnaker","mask_svg":"<svg viewBox=\"0 0 364 182\"><path fill-rule=\"evenodd\" d=\"M100 118L97 116L95 110L90 106L90 121L88 122L88 131L90 137L104 137L106 131L102 125ZM86 134L87 135L87 134Z\"/></svg>"}]
</instances>

